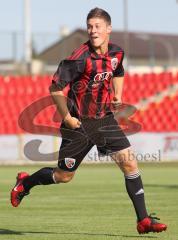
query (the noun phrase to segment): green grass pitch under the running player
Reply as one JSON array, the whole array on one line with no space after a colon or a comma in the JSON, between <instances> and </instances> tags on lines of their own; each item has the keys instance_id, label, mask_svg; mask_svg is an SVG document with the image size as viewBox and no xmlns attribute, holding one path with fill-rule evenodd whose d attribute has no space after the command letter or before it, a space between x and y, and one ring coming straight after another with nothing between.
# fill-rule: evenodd
<instances>
[{"instance_id":1,"label":"green grass pitch under the running player","mask_svg":"<svg viewBox=\"0 0 178 240\"><path fill-rule=\"evenodd\" d=\"M149 212L168 224L163 233L138 235L124 178L113 164L82 165L73 181L38 186L18 208L9 193L18 171L39 166L0 166L0 239L6 240L176 240L178 163L140 164Z\"/></svg>"}]
</instances>

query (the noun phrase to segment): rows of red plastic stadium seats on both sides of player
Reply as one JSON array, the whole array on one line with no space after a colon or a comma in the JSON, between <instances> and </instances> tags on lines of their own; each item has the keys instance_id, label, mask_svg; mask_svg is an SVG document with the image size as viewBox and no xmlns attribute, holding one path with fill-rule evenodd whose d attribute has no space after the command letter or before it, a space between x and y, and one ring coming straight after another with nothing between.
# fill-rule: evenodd
<instances>
[{"instance_id":1,"label":"rows of red plastic stadium seats on both sides of player","mask_svg":"<svg viewBox=\"0 0 178 240\"><path fill-rule=\"evenodd\" d=\"M34 101L49 96L48 89L51 79L51 76L0 76L0 134L23 132L18 126L20 113ZM126 73L123 101L128 104L136 104L144 98L164 91L175 83L178 83L178 73L174 75L171 72L142 75ZM69 88L66 87L65 94L68 90ZM133 120L142 125L142 131L177 131L177 109L178 96L165 97L160 103L151 103L147 109L138 110L134 114ZM55 111L54 106L47 107L39 113L36 121L48 126L55 125L56 121L56 126L59 126L61 119L54 117Z\"/></svg>"}]
</instances>

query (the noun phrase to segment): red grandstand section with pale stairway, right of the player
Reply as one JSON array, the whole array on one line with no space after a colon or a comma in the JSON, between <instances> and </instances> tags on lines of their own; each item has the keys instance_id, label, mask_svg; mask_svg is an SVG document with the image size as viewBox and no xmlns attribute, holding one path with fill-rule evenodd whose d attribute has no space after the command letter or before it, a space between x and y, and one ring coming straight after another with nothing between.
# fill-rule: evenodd
<instances>
[{"instance_id":1,"label":"red grandstand section with pale stairway, right of the player","mask_svg":"<svg viewBox=\"0 0 178 240\"><path fill-rule=\"evenodd\" d=\"M133 119L142 125L142 131L178 130L178 74L162 72L127 75L124 102L137 107Z\"/></svg>"}]
</instances>

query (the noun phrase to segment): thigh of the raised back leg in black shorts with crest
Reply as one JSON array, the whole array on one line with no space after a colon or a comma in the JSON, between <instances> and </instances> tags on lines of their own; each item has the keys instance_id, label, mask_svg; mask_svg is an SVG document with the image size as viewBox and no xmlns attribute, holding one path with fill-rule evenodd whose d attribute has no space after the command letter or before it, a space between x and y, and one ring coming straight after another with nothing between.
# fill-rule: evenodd
<instances>
[{"instance_id":1,"label":"thigh of the raised back leg in black shorts with crest","mask_svg":"<svg viewBox=\"0 0 178 240\"><path fill-rule=\"evenodd\" d=\"M82 128L61 129L62 143L59 150L58 167L64 171L75 171L93 147Z\"/></svg>"}]
</instances>

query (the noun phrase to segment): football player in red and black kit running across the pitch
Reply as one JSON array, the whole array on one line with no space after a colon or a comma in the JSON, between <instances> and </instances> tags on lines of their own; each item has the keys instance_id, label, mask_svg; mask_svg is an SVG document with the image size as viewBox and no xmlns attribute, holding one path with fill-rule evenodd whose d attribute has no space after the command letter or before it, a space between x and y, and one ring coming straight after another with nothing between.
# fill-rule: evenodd
<instances>
[{"instance_id":1,"label":"football player in red and black kit running across the pitch","mask_svg":"<svg viewBox=\"0 0 178 240\"><path fill-rule=\"evenodd\" d=\"M69 182L85 155L97 145L98 151L110 154L124 173L126 189L137 215L137 231L162 232L167 226L148 216L136 159L129 159L130 143L112 113L111 106L117 108L121 104L124 53L109 43L111 30L111 18L106 11L95 8L89 12L89 41L60 63L50 86L51 96L63 117L58 167L42 168L31 176L19 173L11 192L11 203L17 207L36 185ZM66 86L70 86L67 100Z\"/></svg>"}]
</instances>

